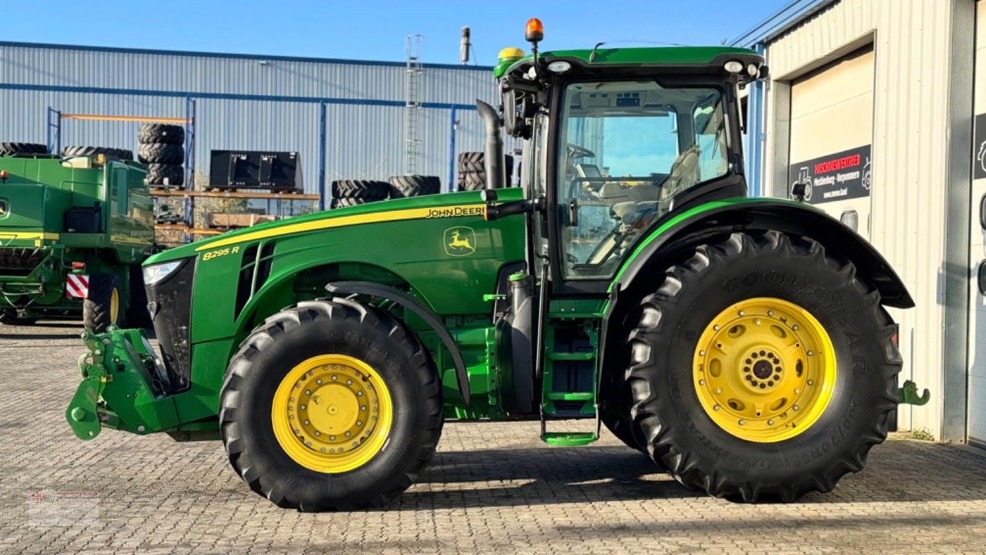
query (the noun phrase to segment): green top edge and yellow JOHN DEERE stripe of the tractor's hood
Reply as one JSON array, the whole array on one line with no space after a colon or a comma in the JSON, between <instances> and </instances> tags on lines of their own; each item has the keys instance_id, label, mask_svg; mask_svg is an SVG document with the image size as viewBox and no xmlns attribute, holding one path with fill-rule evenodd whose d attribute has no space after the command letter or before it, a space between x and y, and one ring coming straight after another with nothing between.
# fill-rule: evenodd
<instances>
[{"instance_id":1,"label":"green top edge and yellow JOHN DEERE stripe of the tractor's hood","mask_svg":"<svg viewBox=\"0 0 986 555\"><path fill-rule=\"evenodd\" d=\"M520 188L507 188L500 192L500 199L503 201L521 200L523 197L524 194ZM481 215L482 204L483 200L479 196L479 191L462 191L395 198L359 206L335 208L287 220L260 224L195 243L177 246L151 256L144 262L144 265L197 256L202 252L247 241L314 233L332 228L358 225L372 226L375 223L401 220Z\"/></svg>"}]
</instances>

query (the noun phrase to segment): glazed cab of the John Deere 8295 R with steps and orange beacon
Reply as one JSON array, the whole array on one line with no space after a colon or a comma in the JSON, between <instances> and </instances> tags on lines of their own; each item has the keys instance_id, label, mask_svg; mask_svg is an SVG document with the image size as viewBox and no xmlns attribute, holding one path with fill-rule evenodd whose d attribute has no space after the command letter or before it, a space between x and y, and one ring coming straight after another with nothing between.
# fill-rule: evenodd
<instances>
[{"instance_id":1,"label":"glazed cab of the John Deere 8295 R with steps and orange beacon","mask_svg":"<svg viewBox=\"0 0 986 555\"><path fill-rule=\"evenodd\" d=\"M531 54L507 48L495 69L503 127L525 140L525 199L496 202L504 182L496 162L487 165L484 198L488 220L528 213L527 266L536 276L528 293L537 305L507 319L513 333L520 328L532 338L533 377L531 395L521 394L517 369L525 361L513 353L518 404L510 408L524 413L528 401L539 404L545 422L597 412L605 312L634 249L672 213L746 195L738 89L767 68L750 50L724 47L599 44L539 53L542 37L540 22L530 20ZM480 114L486 160L500 161L499 116L483 105ZM588 443L598 434L544 428L553 444Z\"/></svg>"}]
</instances>

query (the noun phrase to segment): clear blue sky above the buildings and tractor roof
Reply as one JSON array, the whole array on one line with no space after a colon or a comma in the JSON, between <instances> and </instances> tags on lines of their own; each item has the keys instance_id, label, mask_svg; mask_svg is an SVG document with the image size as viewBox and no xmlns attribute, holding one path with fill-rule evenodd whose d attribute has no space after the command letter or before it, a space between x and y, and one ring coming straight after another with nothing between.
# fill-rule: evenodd
<instances>
[{"instance_id":1,"label":"clear blue sky above the buildings and tractor roof","mask_svg":"<svg viewBox=\"0 0 986 555\"><path fill-rule=\"evenodd\" d=\"M420 34L425 62L457 63L459 30L468 26L470 63L493 65L505 46L527 49L524 24L531 17L544 22L543 48L619 40L718 44L790 1L8 2L0 40L403 61L405 36Z\"/></svg>"}]
</instances>

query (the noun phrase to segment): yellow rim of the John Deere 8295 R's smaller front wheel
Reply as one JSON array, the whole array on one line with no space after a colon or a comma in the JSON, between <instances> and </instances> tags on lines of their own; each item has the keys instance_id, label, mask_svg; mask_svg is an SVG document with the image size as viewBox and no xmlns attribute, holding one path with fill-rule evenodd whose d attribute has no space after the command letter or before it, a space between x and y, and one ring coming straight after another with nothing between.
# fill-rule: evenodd
<instances>
[{"instance_id":1,"label":"yellow rim of the John Deere 8295 R's smaller front wheel","mask_svg":"<svg viewBox=\"0 0 986 555\"><path fill-rule=\"evenodd\" d=\"M271 410L281 449L326 473L366 464L387 442L392 419L387 384L347 355L319 355L291 369L274 391Z\"/></svg>"}]
</instances>

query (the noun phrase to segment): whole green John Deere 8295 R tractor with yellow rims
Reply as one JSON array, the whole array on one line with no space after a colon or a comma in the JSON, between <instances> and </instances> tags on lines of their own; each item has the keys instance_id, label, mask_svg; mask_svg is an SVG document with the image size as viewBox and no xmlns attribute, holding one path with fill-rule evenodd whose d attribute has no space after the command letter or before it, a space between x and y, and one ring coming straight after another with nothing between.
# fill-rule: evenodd
<instances>
[{"instance_id":1,"label":"whole green John Deere 8295 R tractor with yellow rims","mask_svg":"<svg viewBox=\"0 0 986 555\"><path fill-rule=\"evenodd\" d=\"M873 246L747 198L729 47L501 52L487 189L309 214L144 264L161 356L87 335L75 434L221 439L256 493L381 506L447 420L604 425L688 487L753 502L863 468L900 402L910 296ZM506 182L502 128L524 140ZM583 432L558 432L585 419ZM554 428L555 430L552 430Z\"/></svg>"}]
</instances>

